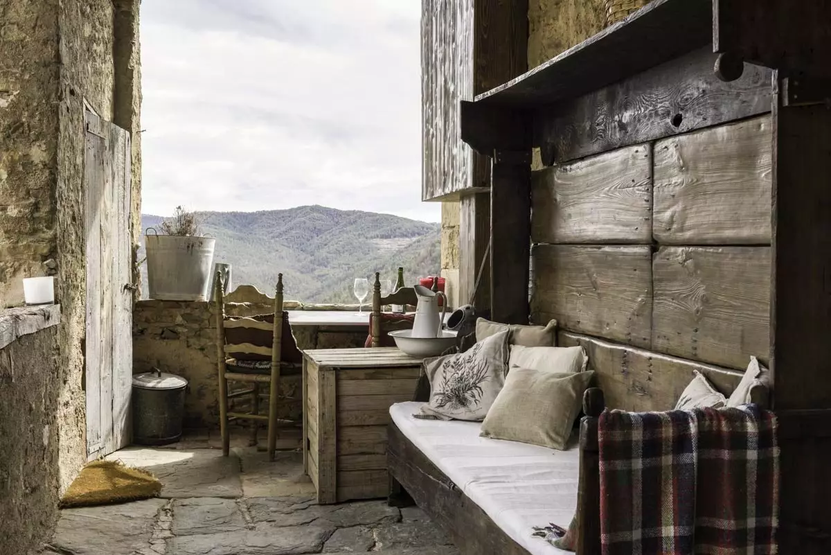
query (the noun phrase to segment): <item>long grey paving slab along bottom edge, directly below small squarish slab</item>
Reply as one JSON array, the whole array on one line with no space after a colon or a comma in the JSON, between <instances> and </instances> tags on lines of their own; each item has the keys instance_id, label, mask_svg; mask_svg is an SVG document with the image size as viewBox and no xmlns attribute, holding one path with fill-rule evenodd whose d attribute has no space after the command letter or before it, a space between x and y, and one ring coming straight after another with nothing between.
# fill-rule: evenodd
<instances>
[{"instance_id":1,"label":"long grey paving slab along bottom edge, directly below small squarish slab","mask_svg":"<svg viewBox=\"0 0 831 555\"><path fill-rule=\"evenodd\" d=\"M258 524L253 530L172 538L170 555L300 555L320 553L333 529L323 526L276 528Z\"/></svg>"}]
</instances>

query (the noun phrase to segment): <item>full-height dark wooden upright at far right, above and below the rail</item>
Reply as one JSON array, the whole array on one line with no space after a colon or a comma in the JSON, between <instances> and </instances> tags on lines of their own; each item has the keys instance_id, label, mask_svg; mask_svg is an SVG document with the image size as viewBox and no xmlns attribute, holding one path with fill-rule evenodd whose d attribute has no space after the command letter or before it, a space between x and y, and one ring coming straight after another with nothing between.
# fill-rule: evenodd
<instances>
[{"instance_id":1,"label":"full-height dark wooden upright at far right, above and below the rail","mask_svg":"<svg viewBox=\"0 0 831 555\"><path fill-rule=\"evenodd\" d=\"M831 110L824 103L831 92L794 97L794 82L786 81L774 95L774 409L783 424L813 413L826 426L806 420L805 434L780 435L779 553L819 555L831 546L831 484L823 478L831 457ZM807 77L795 81L814 88Z\"/></svg>"}]
</instances>

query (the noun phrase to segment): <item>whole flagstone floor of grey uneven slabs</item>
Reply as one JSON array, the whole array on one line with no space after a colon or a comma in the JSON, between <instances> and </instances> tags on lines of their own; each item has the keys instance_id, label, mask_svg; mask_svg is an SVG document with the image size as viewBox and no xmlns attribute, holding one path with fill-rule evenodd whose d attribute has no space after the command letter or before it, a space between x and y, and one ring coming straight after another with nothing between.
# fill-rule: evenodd
<instances>
[{"instance_id":1,"label":"whole flagstone floor of grey uneven slabs","mask_svg":"<svg viewBox=\"0 0 831 555\"><path fill-rule=\"evenodd\" d=\"M60 555L294 555L367 553L458 555L418 508L364 501L318 505L302 453L266 454L234 440L223 457L216 438L111 455L150 470L160 499L61 511L43 553Z\"/></svg>"}]
</instances>

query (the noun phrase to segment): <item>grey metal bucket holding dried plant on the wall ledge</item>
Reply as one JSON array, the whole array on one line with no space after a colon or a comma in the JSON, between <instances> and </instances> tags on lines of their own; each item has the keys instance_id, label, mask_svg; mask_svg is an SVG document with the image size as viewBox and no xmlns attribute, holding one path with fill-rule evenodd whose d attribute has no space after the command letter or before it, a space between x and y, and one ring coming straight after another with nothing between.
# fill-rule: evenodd
<instances>
[{"instance_id":1,"label":"grey metal bucket holding dried plant on the wall ledge","mask_svg":"<svg viewBox=\"0 0 831 555\"><path fill-rule=\"evenodd\" d=\"M153 228L147 231L150 229ZM145 233L150 298L161 301L208 300L215 245L213 237Z\"/></svg>"}]
</instances>

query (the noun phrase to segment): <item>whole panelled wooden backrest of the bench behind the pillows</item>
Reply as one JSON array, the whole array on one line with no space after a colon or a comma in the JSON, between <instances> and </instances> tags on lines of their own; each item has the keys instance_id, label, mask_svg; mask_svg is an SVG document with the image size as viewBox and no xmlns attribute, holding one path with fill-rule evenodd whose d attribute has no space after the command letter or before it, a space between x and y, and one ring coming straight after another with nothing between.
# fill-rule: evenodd
<instances>
[{"instance_id":1,"label":"whole panelled wooden backrest of the bench behind the pillows","mask_svg":"<svg viewBox=\"0 0 831 555\"><path fill-rule=\"evenodd\" d=\"M534 172L531 317L591 344L610 405L663 406L691 369L729 392L769 360L772 133L762 115Z\"/></svg>"}]
</instances>

